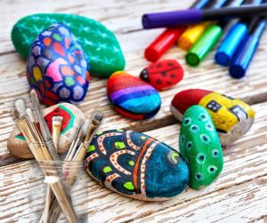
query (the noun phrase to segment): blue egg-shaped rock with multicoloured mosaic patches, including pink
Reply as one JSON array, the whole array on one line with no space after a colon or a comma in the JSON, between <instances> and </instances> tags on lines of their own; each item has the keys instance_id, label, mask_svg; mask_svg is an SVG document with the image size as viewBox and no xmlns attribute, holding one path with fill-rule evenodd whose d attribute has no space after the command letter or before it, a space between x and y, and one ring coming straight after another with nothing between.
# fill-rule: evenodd
<instances>
[{"instance_id":1,"label":"blue egg-shaped rock with multicoloured mosaic patches, including pink","mask_svg":"<svg viewBox=\"0 0 267 223\"><path fill-rule=\"evenodd\" d=\"M85 99L89 63L69 28L56 23L37 36L28 55L27 79L48 106Z\"/></svg>"}]
</instances>

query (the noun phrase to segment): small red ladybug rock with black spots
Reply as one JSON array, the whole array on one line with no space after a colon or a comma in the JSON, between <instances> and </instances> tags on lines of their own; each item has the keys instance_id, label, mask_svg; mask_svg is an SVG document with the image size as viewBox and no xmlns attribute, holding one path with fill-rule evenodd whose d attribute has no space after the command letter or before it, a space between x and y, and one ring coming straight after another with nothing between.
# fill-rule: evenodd
<instances>
[{"instance_id":1,"label":"small red ladybug rock with black spots","mask_svg":"<svg viewBox=\"0 0 267 223\"><path fill-rule=\"evenodd\" d=\"M156 63L151 63L140 74L140 78L143 81L151 84L158 91L171 88L179 83L182 77L182 66L176 60L160 60Z\"/></svg>"}]
</instances>

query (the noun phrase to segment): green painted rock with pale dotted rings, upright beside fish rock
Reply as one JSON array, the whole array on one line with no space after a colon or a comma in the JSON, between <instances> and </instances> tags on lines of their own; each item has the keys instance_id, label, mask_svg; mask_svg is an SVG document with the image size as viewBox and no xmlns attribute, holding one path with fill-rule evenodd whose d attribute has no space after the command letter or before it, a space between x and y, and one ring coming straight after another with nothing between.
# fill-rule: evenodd
<instances>
[{"instance_id":1,"label":"green painted rock with pale dotted rings, upright beside fish rock","mask_svg":"<svg viewBox=\"0 0 267 223\"><path fill-rule=\"evenodd\" d=\"M223 150L214 123L201 106L188 108L182 118L180 153L189 163L192 188L210 185L223 170Z\"/></svg>"}]
</instances>

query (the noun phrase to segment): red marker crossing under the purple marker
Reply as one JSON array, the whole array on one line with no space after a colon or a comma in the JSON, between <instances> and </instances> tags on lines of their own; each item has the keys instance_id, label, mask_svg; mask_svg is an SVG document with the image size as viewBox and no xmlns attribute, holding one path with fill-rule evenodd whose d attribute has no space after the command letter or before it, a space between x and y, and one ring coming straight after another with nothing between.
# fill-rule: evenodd
<instances>
[{"instance_id":1,"label":"red marker crossing under the purple marker","mask_svg":"<svg viewBox=\"0 0 267 223\"><path fill-rule=\"evenodd\" d=\"M201 9L209 0L198 0L192 4L190 8ZM160 36L158 36L146 49L144 56L147 60L154 62L158 60L174 43L179 36L182 35L186 27L179 26L177 28L167 28Z\"/></svg>"}]
</instances>

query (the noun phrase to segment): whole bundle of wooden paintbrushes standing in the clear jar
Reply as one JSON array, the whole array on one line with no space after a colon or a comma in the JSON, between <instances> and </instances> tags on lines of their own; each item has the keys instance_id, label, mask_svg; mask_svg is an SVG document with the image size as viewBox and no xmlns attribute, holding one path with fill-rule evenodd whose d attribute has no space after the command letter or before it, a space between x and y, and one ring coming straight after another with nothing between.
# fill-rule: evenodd
<instances>
[{"instance_id":1,"label":"whole bundle of wooden paintbrushes standing in the clear jar","mask_svg":"<svg viewBox=\"0 0 267 223\"><path fill-rule=\"evenodd\" d=\"M36 92L30 92L30 96L35 111L32 111L30 108L25 108L23 100L16 100L16 108L13 109L12 115L20 131L23 133L29 149L36 158L36 161L40 163L39 166L44 172L45 179L50 179L48 180L49 186L46 188L44 213L40 222L56 222L61 210L69 222L77 222L77 216L73 210L66 184L72 186L75 182L79 166L76 163L84 161L86 150L101 123L102 115L100 113L94 113L90 124L88 122L80 124L77 135L69 147L69 153L65 158L65 163L67 164L62 167L63 176L57 170L57 165L61 163L61 160L56 149L61 131L62 117L53 117L52 138L47 124L44 121L44 115L39 105ZM36 125L35 113L38 116L41 132Z\"/></svg>"}]
</instances>

